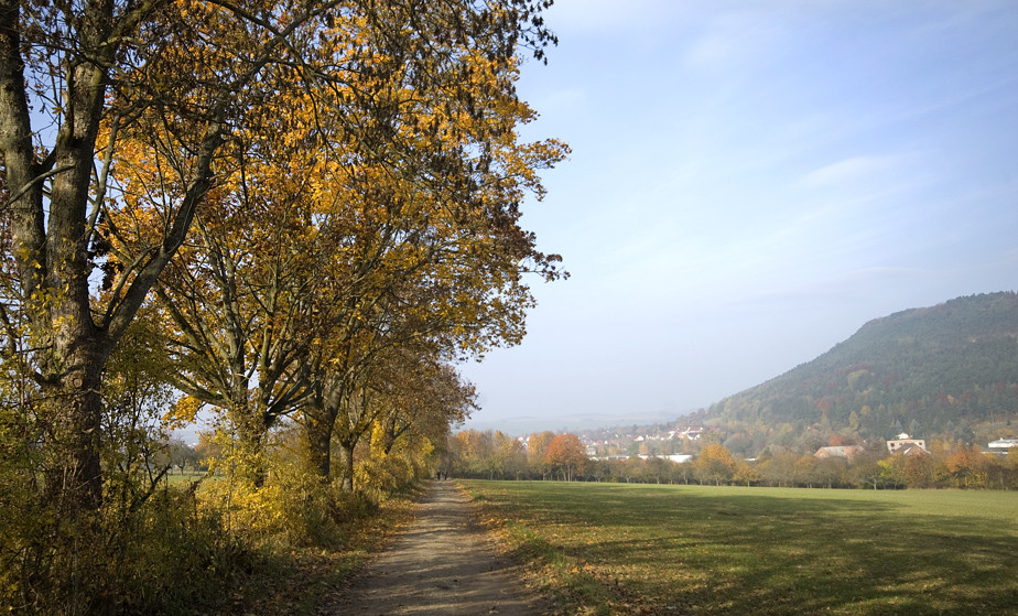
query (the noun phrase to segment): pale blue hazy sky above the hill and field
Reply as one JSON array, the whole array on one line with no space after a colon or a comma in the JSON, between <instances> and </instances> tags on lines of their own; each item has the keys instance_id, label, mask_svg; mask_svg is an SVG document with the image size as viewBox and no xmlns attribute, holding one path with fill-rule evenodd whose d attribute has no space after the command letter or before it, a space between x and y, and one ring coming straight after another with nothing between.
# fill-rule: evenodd
<instances>
[{"instance_id":1,"label":"pale blue hazy sky above the hill and field","mask_svg":"<svg viewBox=\"0 0 1018 616\"><path fill-rule=\"evenodd\" d=\"M519 91L568 280L461 366L509 434L671 421L867 321L1018 290L1018 2L555 0Z\"/></svg>"}]
</instances>

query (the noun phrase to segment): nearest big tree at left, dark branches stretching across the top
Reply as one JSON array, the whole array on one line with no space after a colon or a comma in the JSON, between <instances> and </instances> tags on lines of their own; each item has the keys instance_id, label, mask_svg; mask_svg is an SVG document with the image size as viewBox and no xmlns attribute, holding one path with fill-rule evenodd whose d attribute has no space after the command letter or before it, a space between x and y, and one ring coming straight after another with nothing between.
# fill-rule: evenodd
<instances>
[{"instance_id":1,"label":"nearest big tree at left, dark branches stretching across the top","mask_svg":"<svg viewBox=\"0 0 1018 616\"><path fill-rule=\"evenodd\" d=\"M72 509L101 499L106 360L216 184L220 148L271 98L267 71L283 67L308 93L326 91L354 74L387 72L375 60L383 45L386 62L412 66L407 83L429 91L459 66L443 53L453 43L496 56L528 45L541 55L553 37L539 10L517 0L484 11L455 1L0 3L2 212L17 280L4 311L33 337L53 496ZM468 107L473 93L461 100ZM385 111L370 112L387 123ZM138 216L161 225L124 262L107 258L98 230L122 209L110 171L120 137L131 133L148 134L152 164L173 181L147 187L159 208ZM90 287L99 268L101 299Z\"/></svg>"}]
</instances>

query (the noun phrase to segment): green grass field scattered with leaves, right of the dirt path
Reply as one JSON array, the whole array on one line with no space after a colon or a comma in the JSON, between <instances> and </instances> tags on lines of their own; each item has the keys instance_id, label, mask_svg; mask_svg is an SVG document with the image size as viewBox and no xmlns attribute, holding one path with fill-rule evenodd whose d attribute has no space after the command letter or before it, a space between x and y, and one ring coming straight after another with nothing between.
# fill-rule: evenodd
<instances>
[{"instance_id":1,"label":"green grass field scattered with leaves, right of the dirt path","mask_svg":"<svg viewBox=\"0 0 1018 616\"><path fill-rule=\"evenodd\" d=\"M1018 493L463 485L564 613L1018 615Z\"/></svg>"}]
</instances>

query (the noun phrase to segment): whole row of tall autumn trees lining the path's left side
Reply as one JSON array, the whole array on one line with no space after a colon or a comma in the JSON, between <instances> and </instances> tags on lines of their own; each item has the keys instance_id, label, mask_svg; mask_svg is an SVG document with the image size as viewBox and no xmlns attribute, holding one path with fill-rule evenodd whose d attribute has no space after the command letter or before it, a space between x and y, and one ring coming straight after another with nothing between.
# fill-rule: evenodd
<instances>
[{"instance_id":1,"label":"whole row of tall autumn trees lining the path's left side","mask_svg":"<svg viewBox=\"0 0 1018 616\"><path fill-rule=\"evenodd\" d=\"M442 445L453 363L561 275L520 226L567 153L517 132L550 3L0 0L0 502L34 511L0 522L4 603L154 579L137 528L83 533L154 519L158 432L202 408L227 527Z\"/></svg>"}]
</instances>

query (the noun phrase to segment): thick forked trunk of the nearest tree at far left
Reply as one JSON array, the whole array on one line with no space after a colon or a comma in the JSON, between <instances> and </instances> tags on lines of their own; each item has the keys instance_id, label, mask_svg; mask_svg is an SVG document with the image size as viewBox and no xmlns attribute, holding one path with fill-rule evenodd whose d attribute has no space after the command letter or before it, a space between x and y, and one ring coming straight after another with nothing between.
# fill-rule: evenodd
<instances>
[{"instance_id":1,"label":"thick forked trunk of the nearest tree at far left","mask_svg":"<svg viewBox=\"0 0 1018 616\"><path fill-rule=\"evenodd\" d=\"M62 62L67 73L53 74L56 82L63 80L58 86L62 123L48 155L41 160L32 141L24 79L22 4L0 3L0 156L6 187L0 206L10 213L10 256L17 261L20 310L30 323L31 345L37 349L46 496L58 511L73 516L102 501L99 387L109 353L178 244L162 247L130 285L130 296L107 314L109 321L99 325L93 321L102 311L91 306L91 229L86 221L89 198L96 196L90 194L96 136L109 66L118 53L118 43L110 41L113 3L86 2L75 29L65 33L73 43ZM180 240L189 224L191 210L184 212L188 214L174 220Z\"/></svg>"}]
</instances>

